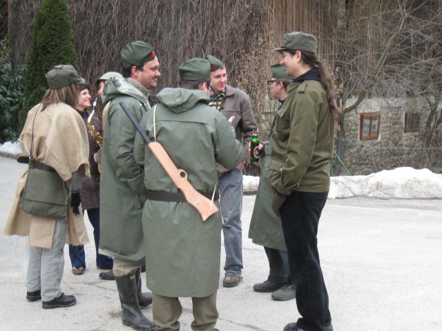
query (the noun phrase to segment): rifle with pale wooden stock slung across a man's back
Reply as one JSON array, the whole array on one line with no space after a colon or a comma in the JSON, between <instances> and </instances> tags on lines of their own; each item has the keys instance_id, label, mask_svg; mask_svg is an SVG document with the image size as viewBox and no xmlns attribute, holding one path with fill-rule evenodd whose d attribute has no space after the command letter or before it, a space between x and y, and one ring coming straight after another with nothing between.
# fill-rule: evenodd
<instances>
[{"instance_id":1,"label":"rifle with pale wooden stock slung across a man's back","mask_svg":"<svg viewBox=\"0 0 442 331\"><path fill-rule=\"evenodd\" d=\"M126 115L129 117L137 131L140 132L141 137L144 139L144 142L151 150L153 155L155 155L158 162L160 162L167 174L169 174L169 177L172 179L173 183L175 183L175 185L177 185L177 188L179 188L182 194L184 194L184 198L186 198L186 201L190 205L193 205L196 210L198 210L201 215L202 221L205 221L212 214L218 212L218 208L216 207L216 205L213 205L212 201L204 197L204 195L200 194L200 192L193 188L191 183L189 183L189 181L187 180L187 172L176 167L176 165L167 154L166 150L164 150L163 146L161 146L161 144L157 143L156 141L151 141L151 139L147 137L147 134L140 127L140 124L137 122L135 117L133 117L133 114L130 110L128 110L123 101L119 103L119 106L121 106L124 112L126 112Z\"/></svg>"}]
</instances>

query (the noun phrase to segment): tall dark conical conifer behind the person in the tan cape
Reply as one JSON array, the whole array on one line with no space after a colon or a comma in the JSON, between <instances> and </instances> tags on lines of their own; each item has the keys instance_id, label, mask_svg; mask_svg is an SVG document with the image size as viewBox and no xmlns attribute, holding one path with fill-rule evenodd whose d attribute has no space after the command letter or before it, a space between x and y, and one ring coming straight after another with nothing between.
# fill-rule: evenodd
<instances>
[{"instance_id":1,"label":"tall dark conical conifer behind the person in the tan cape","mask_svg":"<svg viewBox=\"0 0 442 331\"><path fill-rule=\"evenodd\" d=\"M48 89L45 74L57 64L70 64L78 71L72 26L64 0L43 0L35 11L26 62L25 97L19 115L21 128L28 111L44 97Z\"/></svg>"}]
</instances>

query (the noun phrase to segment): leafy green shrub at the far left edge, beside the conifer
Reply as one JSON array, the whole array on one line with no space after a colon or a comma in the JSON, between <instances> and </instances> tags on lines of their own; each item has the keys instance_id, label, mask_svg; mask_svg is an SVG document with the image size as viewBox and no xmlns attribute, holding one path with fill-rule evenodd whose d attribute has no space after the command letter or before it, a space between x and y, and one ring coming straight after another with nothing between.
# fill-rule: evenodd
<instances>
[{"instance_id":1,"label":"leafy green shrub at the far left edge, beside the conifer","mask_svg":"<svg viewBox=\"0 0 442 331\"><path fill-rule=\"evenodd\" d=\"M8 39L0 41L0 141L19 136L17 117L23 103L24 66L12 70Z\"/></svg>"}]
</instances>

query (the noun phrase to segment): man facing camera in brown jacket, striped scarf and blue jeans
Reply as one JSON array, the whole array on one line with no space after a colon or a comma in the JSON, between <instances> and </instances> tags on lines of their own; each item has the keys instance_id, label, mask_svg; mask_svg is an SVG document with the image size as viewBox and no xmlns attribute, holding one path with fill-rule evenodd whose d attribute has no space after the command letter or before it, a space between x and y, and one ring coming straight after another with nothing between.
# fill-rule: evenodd
<instances>
[{"instance_id":1,"label":"man facing camera in brown jacket, striped scarf and blue jeans","mask_svg":"<svg viewBox=\"0 0 442 331\"><path fill-rule=\"evenodd\" d=\"M236 139L244 146L244 157L238 167L227 170L218 166L222 232L226 250L224 287L237 286L242 280L242 168L250 161L249 142L256 126L249 96L239 88L227 85L227 70L219 59L209 55L211 64L211 102L227 119L233 117Z\"/></svg>"}]
</instances>

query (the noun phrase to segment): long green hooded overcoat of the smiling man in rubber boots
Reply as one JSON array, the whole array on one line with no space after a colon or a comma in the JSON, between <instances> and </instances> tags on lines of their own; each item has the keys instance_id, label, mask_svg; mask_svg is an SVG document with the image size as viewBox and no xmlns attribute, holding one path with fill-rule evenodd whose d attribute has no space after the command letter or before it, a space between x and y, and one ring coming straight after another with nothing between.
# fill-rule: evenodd
<instances>
[{"instance_id":1,"label":"long green hooded overcoat of the smiling man in rubber boots","mask_svg":"<svg viewBox=\"0 0 442 331\"><path fill-rule=\"evenodd\" d=\"M138 121L150 106L144 94L124 79L106 82L103 101L111 101L111 106L104 119L100 163L100 252L144 264L144 170L133 156L135 128L119 103L124 101Z\"/></svg>"}]
</instances>

